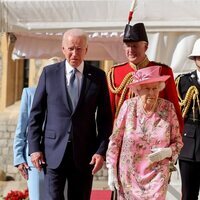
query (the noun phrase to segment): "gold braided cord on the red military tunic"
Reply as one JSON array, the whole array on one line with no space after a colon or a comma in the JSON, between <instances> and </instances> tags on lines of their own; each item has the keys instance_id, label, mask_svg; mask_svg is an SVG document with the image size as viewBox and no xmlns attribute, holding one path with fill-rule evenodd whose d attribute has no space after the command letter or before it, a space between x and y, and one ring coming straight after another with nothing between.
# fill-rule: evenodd
<instances>
[{"instance_id":1,"label":"gold braided cord on the red military tunic","mask_svg":"<svg viewBox=\"0 0 200 200\"><path fill-rule=\"evenodd\" d=\"M119 92L121 92L121 96L119 99L119 103L116 107L116 112L115 112L115 116L118 115L119 109L121 108L125 98L126 98L126 93L128 90L127 85L130 84L132 82L132 72L129 72L123 79L123 81L121 82L119 87L115 87L114 85L114 68L112 67L107 74L107 80L108 80L108 87L110 89L110 91L113 94L118 94Z\"/></svg>"}]
</instances>

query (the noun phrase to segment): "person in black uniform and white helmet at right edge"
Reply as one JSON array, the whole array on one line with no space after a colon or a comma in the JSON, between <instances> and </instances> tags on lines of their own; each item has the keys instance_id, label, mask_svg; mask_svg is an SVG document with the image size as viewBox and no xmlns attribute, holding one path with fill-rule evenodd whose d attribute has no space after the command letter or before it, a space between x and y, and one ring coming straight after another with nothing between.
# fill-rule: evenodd
<instances>
[{"instance_id":1,"label":"person in black uniform and white helmet at right edge","mask_svg":"<svg viewBox=\"0 0 200 200\"><path fill-rule=\"evenodd\" d=\"M184 118L183 143L179 156L182 200L197 200L200 189L200 39L189 59L196 70L176 78L179 102Z\"/></svg>"}]
</instances>

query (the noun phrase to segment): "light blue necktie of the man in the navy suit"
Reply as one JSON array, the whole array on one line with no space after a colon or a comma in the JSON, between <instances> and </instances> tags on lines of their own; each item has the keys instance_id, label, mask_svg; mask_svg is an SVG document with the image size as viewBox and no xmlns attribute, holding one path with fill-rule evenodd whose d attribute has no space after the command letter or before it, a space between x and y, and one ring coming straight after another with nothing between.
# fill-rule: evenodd
<instances>
[{"instance_id":1,"label":"light blue necktie of the man in the navy suit","mask_svg":"<svg viewBox=\"0 0 200 200\"><path fill-rule=\"evenodd\" d=\"M79 85L78 85L77 72L78 70L76 68L72 70L68 85L68 92L72 102L73 111L75 110L79 99L79 90L78 90Z\"/></svg>"}]
</instances>

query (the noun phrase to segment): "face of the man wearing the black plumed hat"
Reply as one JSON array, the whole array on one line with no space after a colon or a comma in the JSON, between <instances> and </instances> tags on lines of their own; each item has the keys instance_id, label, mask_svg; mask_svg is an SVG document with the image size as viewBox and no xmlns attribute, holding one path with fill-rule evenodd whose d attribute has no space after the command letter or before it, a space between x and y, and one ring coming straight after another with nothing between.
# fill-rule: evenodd
<instances>
[{"instance_id":1,"label":"face of the man wearing the black plumed hat","mask_svg":"<svg viewBox=\"0 0 200 200\"><path fill-rule=\"evenodd\" d=\"M124 50L129 62L138 64L145 58L145 53L148 48L147 42L126 42Z\"/></svg>"}]
</instances>

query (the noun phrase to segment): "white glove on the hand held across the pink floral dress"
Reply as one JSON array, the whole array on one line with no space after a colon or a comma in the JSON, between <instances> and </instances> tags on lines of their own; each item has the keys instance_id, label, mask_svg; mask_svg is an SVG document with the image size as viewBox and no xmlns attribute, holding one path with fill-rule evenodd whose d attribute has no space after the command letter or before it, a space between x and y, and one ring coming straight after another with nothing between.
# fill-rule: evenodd
<instances>
[{"instance_id":1,"label":"white glove on the hand held across the pink floral dress","mask_svg":"<svg viewBox=\"0 0 200 200\"><path fill-rule=\"evenodd\" d=\"M148 158L151 162L159 162L165 158L170 158L172 156L172 149L170 147L167 148L154 148L152 149L151 154L148 155Z\"/></svg>"}]
</instances>

